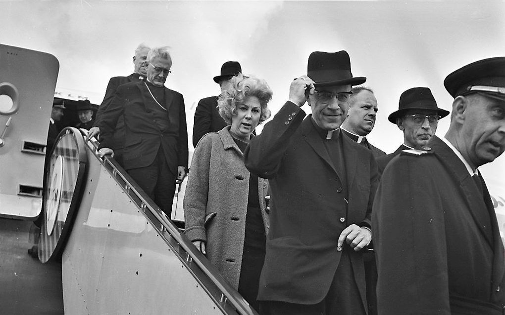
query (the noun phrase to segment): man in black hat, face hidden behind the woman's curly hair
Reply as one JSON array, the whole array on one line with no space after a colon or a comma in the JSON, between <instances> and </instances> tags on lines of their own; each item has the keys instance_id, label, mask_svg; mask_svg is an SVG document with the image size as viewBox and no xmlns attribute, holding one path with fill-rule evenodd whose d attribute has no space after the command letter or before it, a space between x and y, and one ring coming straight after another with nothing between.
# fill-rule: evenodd
<instances>
[{"instance_id":1,"label":"man in black hat, face hidden behind the woman's curly hair","mask_svg":"<svg viewBox=\"0 0 505 315\"><path fill-rule=\"evenodd\" d=\"M238 61L226 61L221 67L221 75L214 77L214 82L219 84L221 91L226 89L231 77L242 72ZM201 99L194 112L193 124L193 147L200 141L201 137L208 133L215 133L226 127L226 122L219 115L218 99L219 96L211 96Z\"/></svg>"}]
</instances>

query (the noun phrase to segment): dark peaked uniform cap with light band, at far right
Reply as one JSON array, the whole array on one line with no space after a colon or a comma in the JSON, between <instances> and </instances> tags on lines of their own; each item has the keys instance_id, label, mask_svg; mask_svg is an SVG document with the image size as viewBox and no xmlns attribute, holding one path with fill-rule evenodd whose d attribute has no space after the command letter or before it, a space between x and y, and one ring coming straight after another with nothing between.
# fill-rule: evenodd
<instances>
[{"instance_id":1,"label":"dark peaked uniform cap with light band, at far right","mask_svg":"<svg viewBox=\"0 0 505 315\"><path fill-rule=\"evenodd\" d=\"M505 57L472 62L448 75L443 85L454 98L480 92L505 100Z\"/></svg>"}]
</instances>

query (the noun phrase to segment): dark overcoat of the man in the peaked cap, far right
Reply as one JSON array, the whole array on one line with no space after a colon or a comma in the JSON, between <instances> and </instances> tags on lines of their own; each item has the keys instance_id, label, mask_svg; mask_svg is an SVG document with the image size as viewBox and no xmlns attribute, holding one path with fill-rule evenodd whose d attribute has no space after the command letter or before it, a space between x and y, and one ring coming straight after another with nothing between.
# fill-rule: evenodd
<instances>
[{"instance_id":1,"label":"dark overcoat of the man in the peaked cap, far right","mask_svg":"<svg viewBox=\"0 0 505 315\"><path fill-rule=\"evenodd\" d=\"M391 160L376 194L379 314L501 314L503 244L484 181L483 196L442 140L427 146Z\"/></svg>"}]
</instances>

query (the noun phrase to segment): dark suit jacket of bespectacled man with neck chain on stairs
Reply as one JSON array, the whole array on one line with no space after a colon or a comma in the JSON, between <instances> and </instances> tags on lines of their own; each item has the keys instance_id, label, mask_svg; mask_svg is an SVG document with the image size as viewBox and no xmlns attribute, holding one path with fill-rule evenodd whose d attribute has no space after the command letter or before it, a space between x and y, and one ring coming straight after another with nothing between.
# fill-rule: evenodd
<instances>
[{"instance_id":1,"label":"dark suit jacket of bespectacled man with neck chain on stairs","mask_svg":"<svg viewBox=\"0 0 505 315\"><path fill-rule=\"evenodd\" d=\"M153 122L154 113L145 104L158 106L149 96L143 81L123 84L102 115L102 142L99 148L111 148L119 117L125 121L126 141L124 169L145 167L153 163L160 146L170 170L177 175L177 166L188 166L188 141L184 99L176 91L165 89L165 108L170 127L162 132Z\"/></svg>"}]
</instances>

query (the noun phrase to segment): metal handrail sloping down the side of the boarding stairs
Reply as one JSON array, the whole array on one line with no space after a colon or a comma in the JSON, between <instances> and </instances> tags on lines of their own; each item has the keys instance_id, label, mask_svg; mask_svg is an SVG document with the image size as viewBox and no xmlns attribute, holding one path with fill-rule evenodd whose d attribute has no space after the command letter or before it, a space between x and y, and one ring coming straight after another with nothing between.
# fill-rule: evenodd
<instances>
[{"instance_id":1,"label":"metal handrail sloping down the side of the boarding stairs","mask_svg":"<svg viewBox=\"0 0 505 315\"><path fill-rule=\"evenodd\" d=\"M81 129L81 134L86 141L87 131ZM139 211L150 221L158 234L172 248L181 263L186 266L188 271L191 272L220 309L226 314L238 312L242 315L258 315L258 312L223 278L219 271L200 253L193 243L179 231L170 218L145 194L118 162L109 156L100 158L97 153L98 142L94 138L89 139L86 143L88 143L88 148L92 151L93 155L114 177L131 201L137 205ZM176 248L177 246L180 248ZM205 281L206 279L199 277L198 270L192 268L194 265L199 268L203 275L209 278L209 281ZM213 290L210 287L212 285L217 290Z\"/></svg>"}]
</instances>

